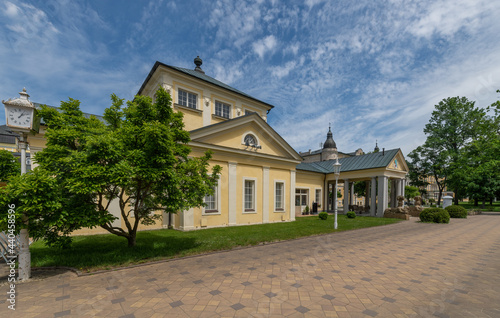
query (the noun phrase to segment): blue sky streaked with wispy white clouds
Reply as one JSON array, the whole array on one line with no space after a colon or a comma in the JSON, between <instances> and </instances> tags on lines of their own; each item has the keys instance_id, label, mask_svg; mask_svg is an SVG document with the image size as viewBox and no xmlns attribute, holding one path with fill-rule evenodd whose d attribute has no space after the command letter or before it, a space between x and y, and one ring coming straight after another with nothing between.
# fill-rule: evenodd
<instances>
[{"instance_id":1,"label":"blue sky streaked with wispy white clouds","mask_svg":"<svg viewBox=\"0 0 500 318\"><path fill-rule=\"evenodd\" d=\"M275 105L268 122L297 151L331 122L340 151L378 140L407 154L443 98L497 99L498 12L491 0L0 0L0 99L26 87L102 114L155 61L194 68L199 55L207 75Z\"/></svg>"}]
</instances>

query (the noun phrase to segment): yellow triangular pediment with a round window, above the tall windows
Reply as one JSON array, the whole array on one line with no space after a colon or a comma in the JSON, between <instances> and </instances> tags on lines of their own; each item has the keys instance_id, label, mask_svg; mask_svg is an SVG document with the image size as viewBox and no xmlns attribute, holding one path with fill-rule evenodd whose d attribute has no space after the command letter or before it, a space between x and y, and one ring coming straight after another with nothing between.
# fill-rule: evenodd
<instances>
[{"instance_id":1,"label":"yellow triangular pediment with a round window, above the tall windows","mask_svg":"<svg viewBox=\"0 0 500 318\"><path fill-rule=\"evenodd\" d=\"M192 141L247 151L249 155L261 153L301 160L299 154L257 114L206 126L190 133Z\"/></svg>"}]
</instances>

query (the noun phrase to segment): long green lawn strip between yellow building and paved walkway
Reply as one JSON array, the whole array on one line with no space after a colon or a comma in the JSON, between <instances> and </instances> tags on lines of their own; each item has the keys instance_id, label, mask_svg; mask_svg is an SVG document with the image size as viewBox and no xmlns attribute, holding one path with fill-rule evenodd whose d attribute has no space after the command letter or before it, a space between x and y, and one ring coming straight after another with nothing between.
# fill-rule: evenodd
<instances>
[{"instance_id":1,"label":"long green lawn strip between yellow building and paved walkway","mask_svg":"<svg viewBox=\"0 0 500 318\"><path fill-rule=\"evenodd\" d=\"M338 230L346 231L396 223L400 220L375 217L338 217ZM70 266L81 271L139 264L153 260L196 255L211 251L229 250L234 247L257 245L298 237L336 232L333 216L323 221L318 216L297 218L295 222L234 226L180 232L155 230L137 233L137 245L127 246L124 238L116 235L90 235L74 237L67 250L49 248L43 242L31 245L32 267Z\"/></svg>"}]
</instances>

